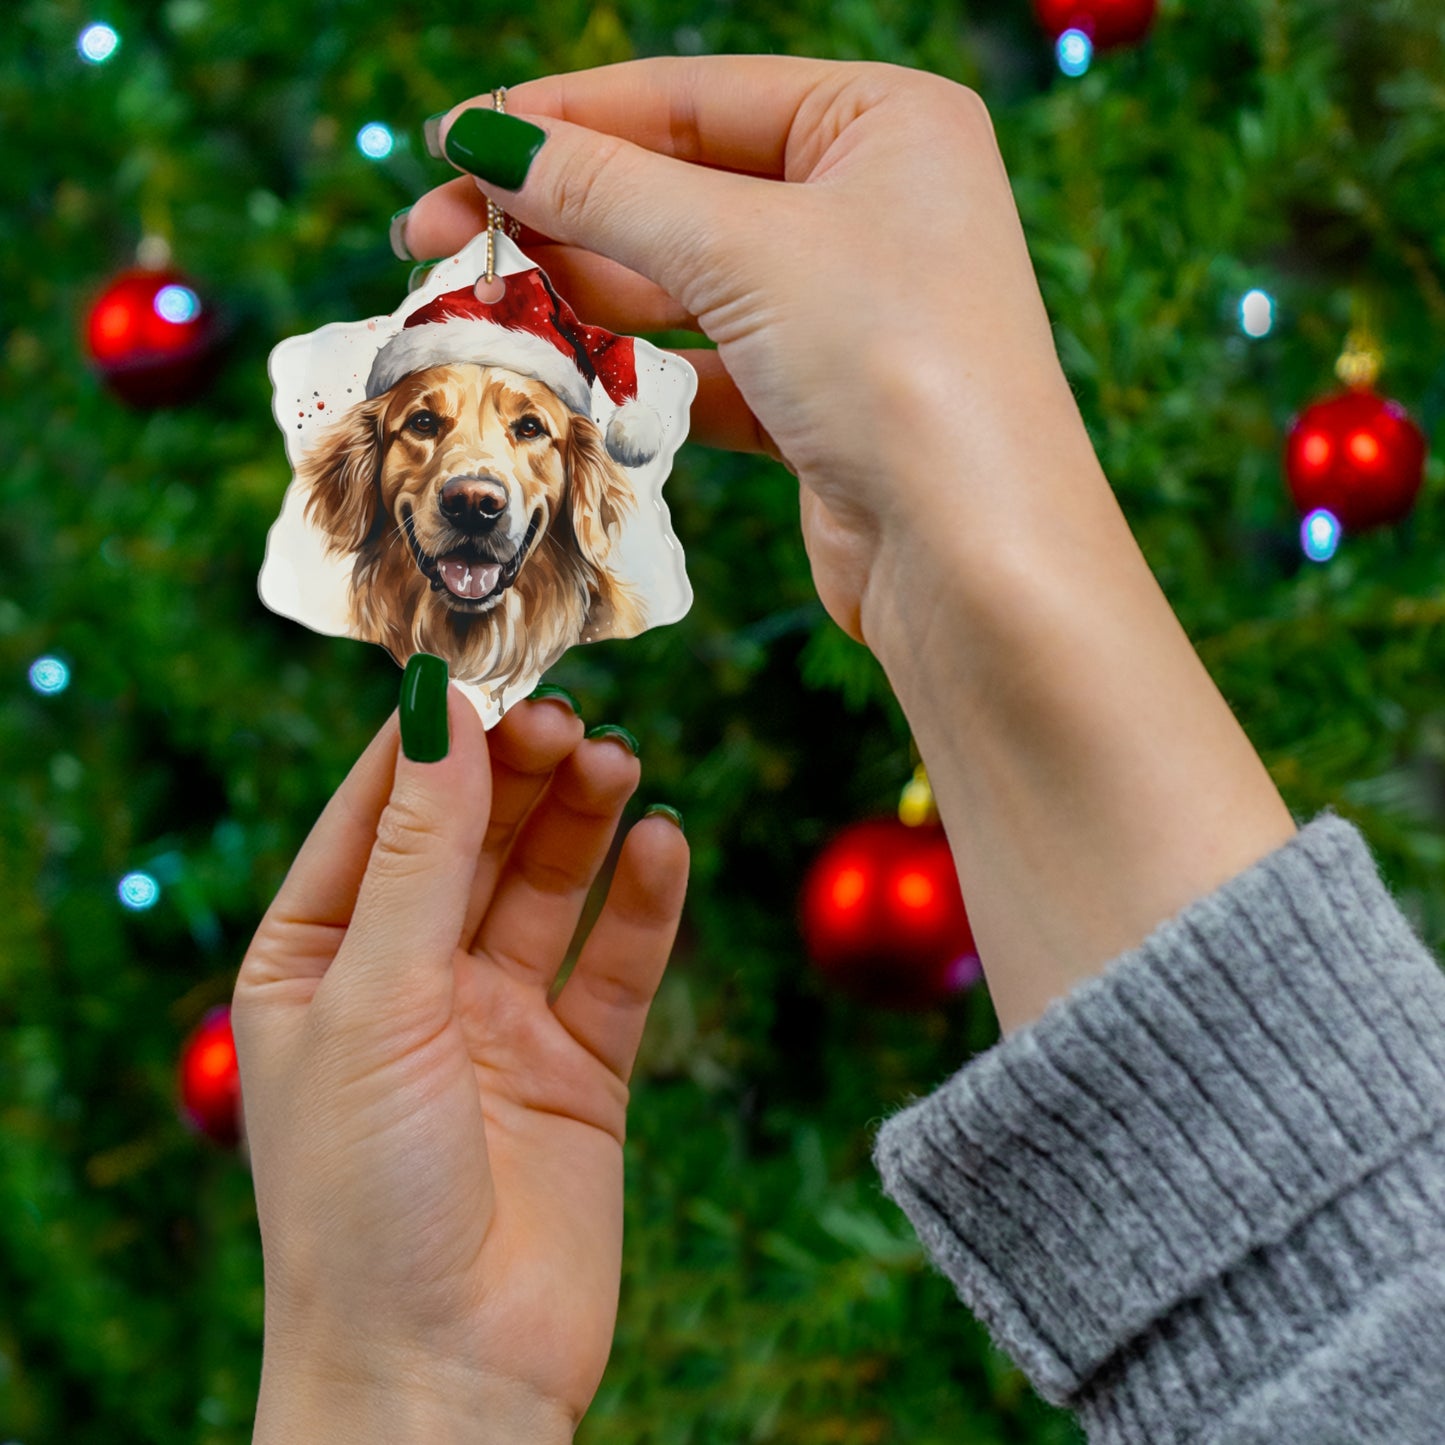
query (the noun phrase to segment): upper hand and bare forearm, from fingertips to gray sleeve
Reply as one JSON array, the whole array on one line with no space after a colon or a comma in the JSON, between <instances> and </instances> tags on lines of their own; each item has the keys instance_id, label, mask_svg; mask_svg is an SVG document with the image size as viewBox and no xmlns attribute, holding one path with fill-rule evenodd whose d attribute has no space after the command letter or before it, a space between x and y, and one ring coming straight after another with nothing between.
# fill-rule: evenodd
<instances>
[{"instance_id":1,"label":"upper hand and bare forearm, from fingertips to gray sleeve","mask_svg":"<svg viewBox=\"0 0 1445 1445\"><path fill-rule=\"evenodd\" d=\"M1289 837L1094 455L977 95L707 56L507 110L546 131L525 184L431 191L407 247L457 250L486 192L585 319L717 342L683 353L694 435L798 474L818 594L928 762L1006 1029Z\"/></svg>"}]
</instances>

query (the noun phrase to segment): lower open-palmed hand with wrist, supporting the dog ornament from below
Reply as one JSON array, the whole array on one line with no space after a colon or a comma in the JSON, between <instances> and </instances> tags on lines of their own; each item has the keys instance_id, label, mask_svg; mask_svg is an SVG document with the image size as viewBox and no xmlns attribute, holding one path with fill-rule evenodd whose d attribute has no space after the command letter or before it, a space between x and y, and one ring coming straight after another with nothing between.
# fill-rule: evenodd
<instances>
[{"instance_id":1,"label":"lower open-palmed hand with wrist, supporting the dog ornament from below","mask_svg":"<svg viewBox=\"0 0 1445 1445\"><path fill-rule=\"evenodd\" d=\"M571 1439L611 1348L627 1078L686 844L630 831L549 1003L637 760L555 701L490 746L455 689L448 717L435 763L381 728L237 980L257 1442Z\"/></svg>"}]
</instances>

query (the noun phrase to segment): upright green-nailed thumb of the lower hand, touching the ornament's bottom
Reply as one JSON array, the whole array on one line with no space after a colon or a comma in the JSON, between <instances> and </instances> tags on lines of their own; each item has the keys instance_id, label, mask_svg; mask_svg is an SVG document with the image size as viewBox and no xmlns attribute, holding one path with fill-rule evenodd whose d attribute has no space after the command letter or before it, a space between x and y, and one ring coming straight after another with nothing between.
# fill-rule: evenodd
<instances>
[{"instance_id":1,"label":"upright green-nailed thumb of the lower hand, touching the ornament's bottom","mask_svg":"<svg viewBox=\"0 0 1445 1445\"><path fill-rule=\"evenodd\" d=\"M402 749L376 825L347 936L327 972L367 1012L435 1017L449 1007L477 855L491 814L487 734L448 685L447 663L416 653L402 681ZM377 1014L380 1017L380 1014Z\"/></svg>"}]
</instances>

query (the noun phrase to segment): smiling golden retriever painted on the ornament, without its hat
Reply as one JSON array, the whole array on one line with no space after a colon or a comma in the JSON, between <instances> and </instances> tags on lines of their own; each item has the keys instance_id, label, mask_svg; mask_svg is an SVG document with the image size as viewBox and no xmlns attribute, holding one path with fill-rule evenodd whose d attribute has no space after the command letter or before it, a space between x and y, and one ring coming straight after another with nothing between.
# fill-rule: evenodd
<instances>
[{"instance_id":1,"label":"smiling golden retriever painted on the ornament, without its hat","mask_svg":"<svg viewBox=\"0 0 1445 1445\"><path fill-rule=\"evenodd\" d=\"M539 380L428 366L357 403L303 460L306 517L353 555L353 633L500 691L569 646L642 631L608 556L636 497L590 416Z\"/></svg>"}]
</instances>

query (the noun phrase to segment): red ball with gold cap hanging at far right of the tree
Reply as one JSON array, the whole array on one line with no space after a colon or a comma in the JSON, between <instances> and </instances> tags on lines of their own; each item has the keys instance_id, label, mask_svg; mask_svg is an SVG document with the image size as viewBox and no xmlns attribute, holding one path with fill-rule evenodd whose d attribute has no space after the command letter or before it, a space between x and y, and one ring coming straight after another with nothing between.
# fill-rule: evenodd
<instances>
[{"instance_id":1,"label":"red ball with gold cap hanging at far right of the tree","mask_svg":"<svg viewBox=\"0 0 1445 1445\"><path fill-rule=\"evenodd\" d=\"M1285 475L1300 516L1324 507L1345 532L1399 522L1425 480L1425 434L1399 402L1355 387L1295 418Z\"/></svg>"}]
</instances>

